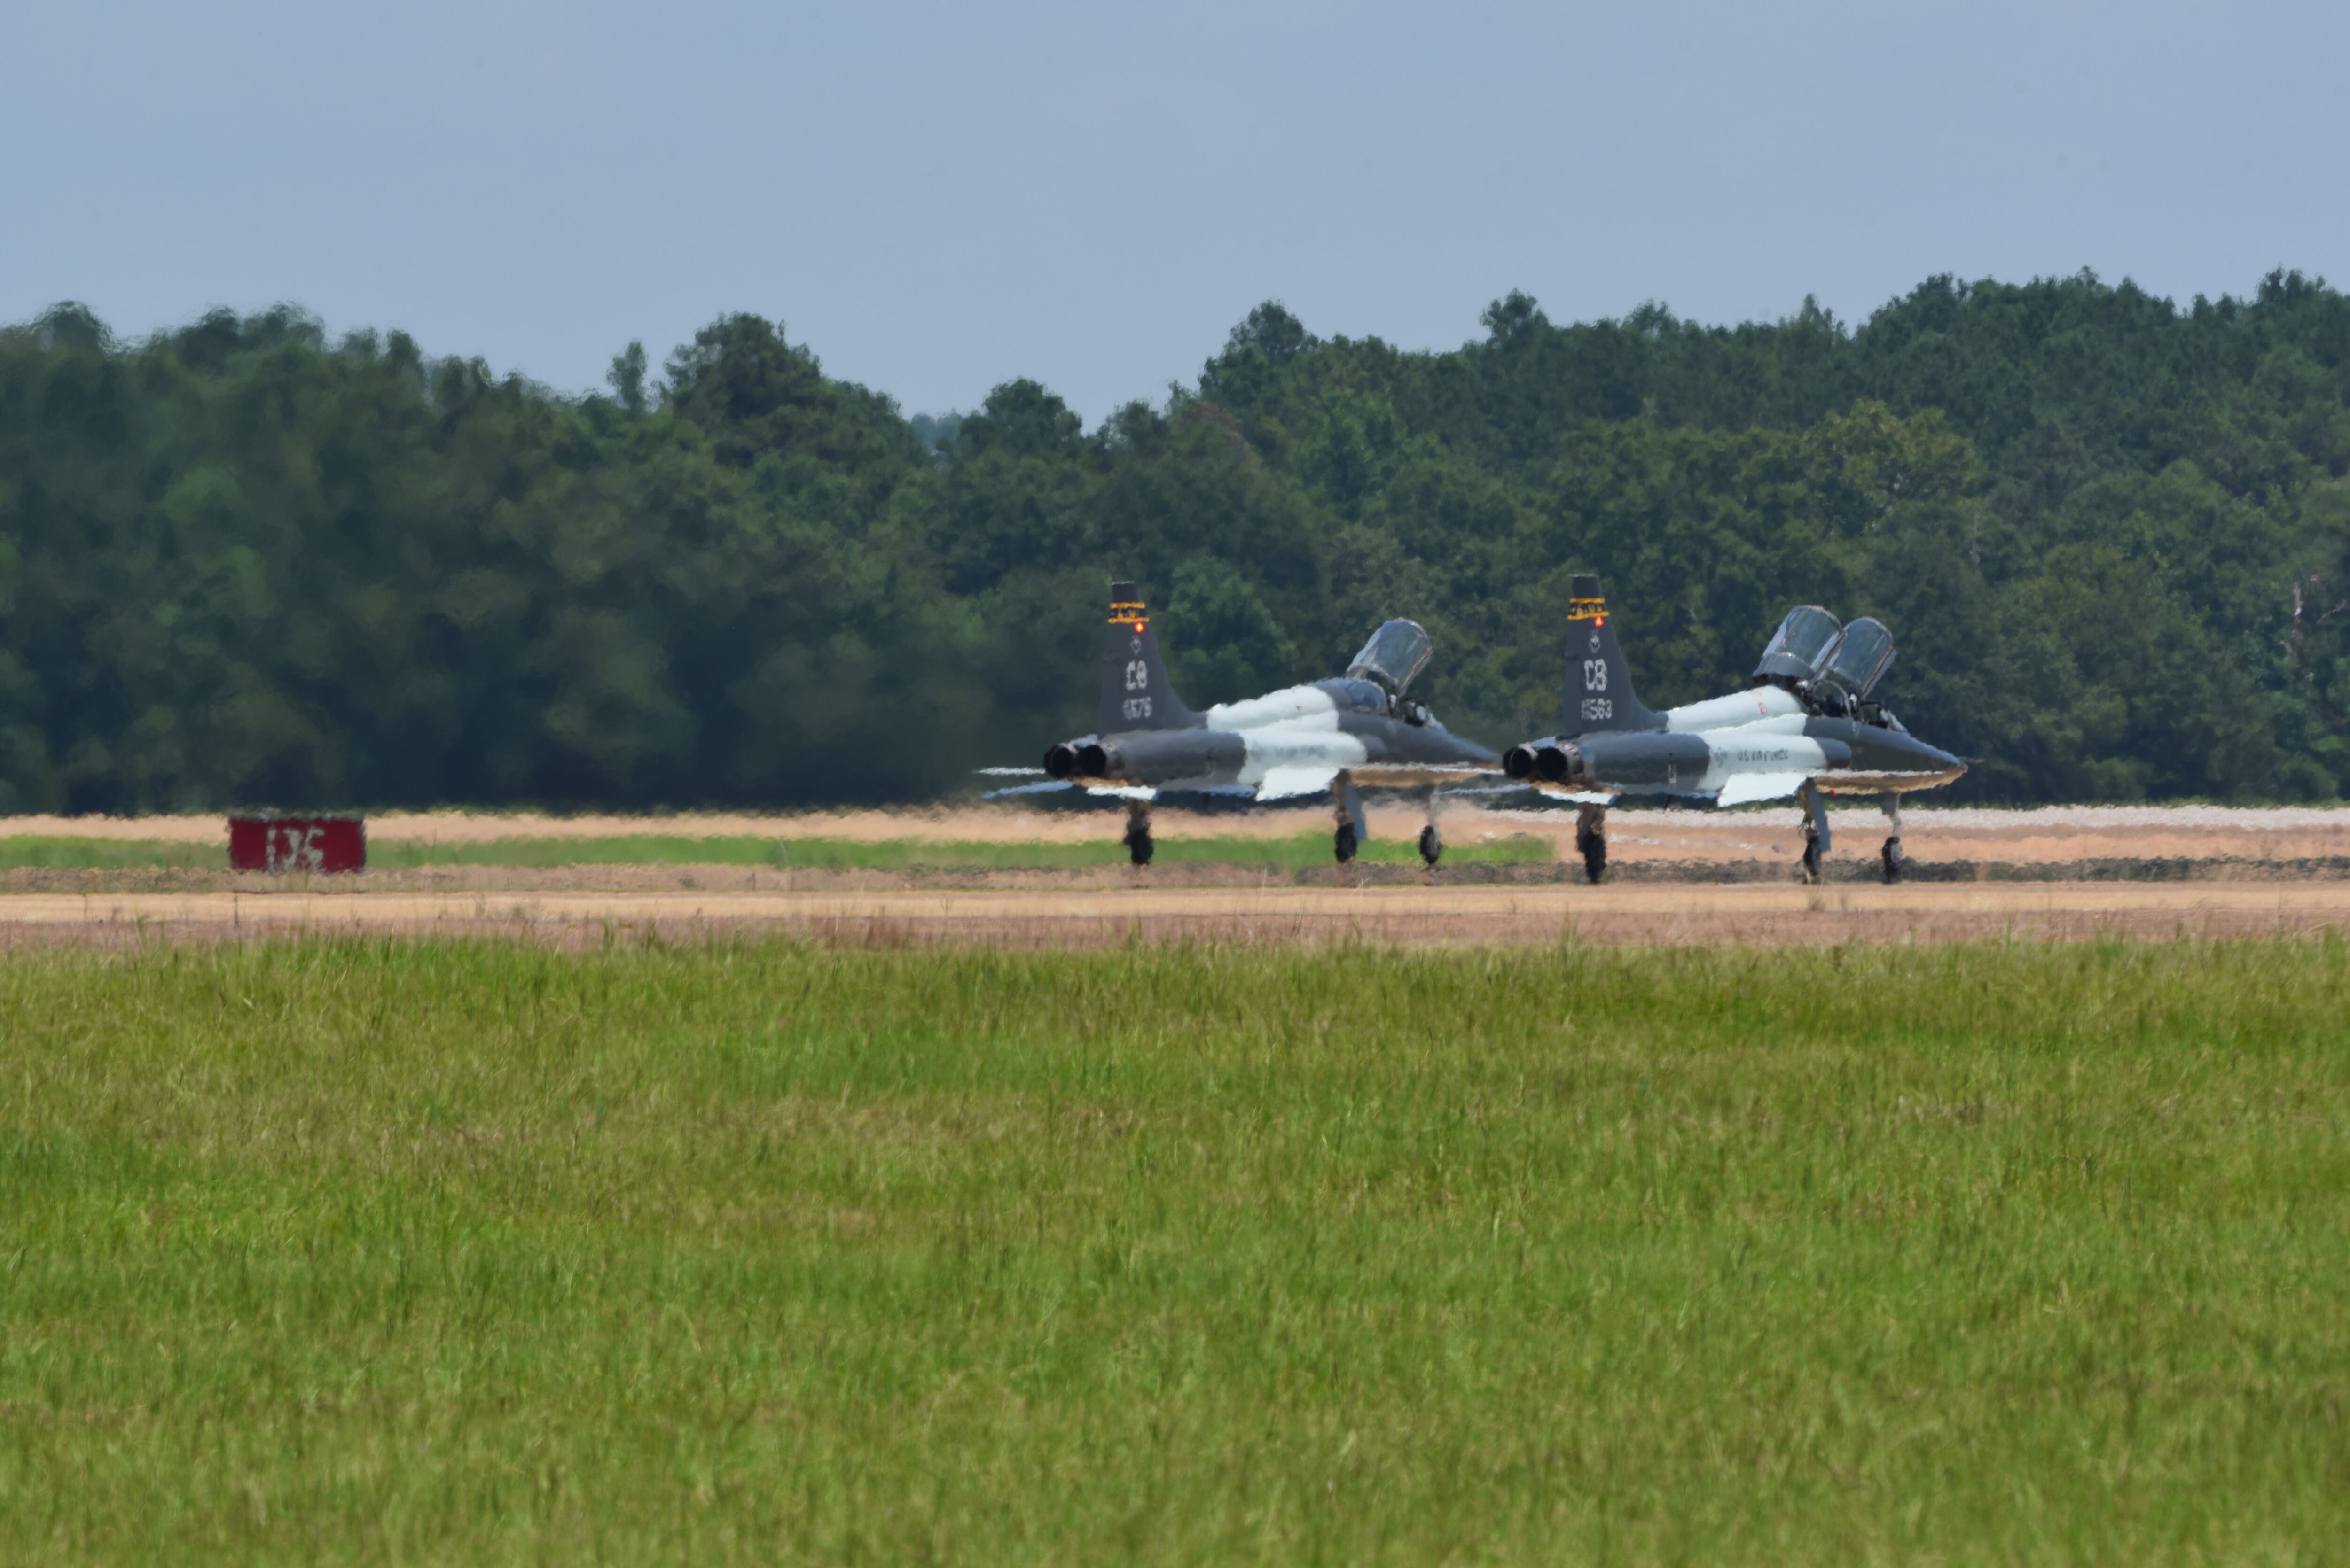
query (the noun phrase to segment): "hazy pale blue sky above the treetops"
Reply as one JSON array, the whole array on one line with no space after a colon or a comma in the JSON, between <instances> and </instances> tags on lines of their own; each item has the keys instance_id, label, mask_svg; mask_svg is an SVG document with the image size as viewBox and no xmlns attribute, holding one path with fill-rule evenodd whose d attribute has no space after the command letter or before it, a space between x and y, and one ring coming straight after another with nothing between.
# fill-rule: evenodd
<instances>
[{"instance_id":1,"label":"hazy pale blue sky above the treetops","mask_svg":"<svg viewBox=\"0 0 2350 1568\"><path fill-rule=\"evenodd\" d=\"M369 5L0 14L0 319L294 300L564 390L726 310L1088 418L1264 298L1866 317L1934 272L2350 284L2350 5Z\"/></svg>"}]
</instances>

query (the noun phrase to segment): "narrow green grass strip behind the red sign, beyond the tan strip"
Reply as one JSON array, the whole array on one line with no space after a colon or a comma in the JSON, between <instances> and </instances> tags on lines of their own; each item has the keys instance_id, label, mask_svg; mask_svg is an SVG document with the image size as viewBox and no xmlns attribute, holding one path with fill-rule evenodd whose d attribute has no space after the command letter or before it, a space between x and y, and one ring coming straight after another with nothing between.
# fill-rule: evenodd
<instances>
[{"instance_id":1,"label":"narrow green grass strip behind the red sign, beyond the tan strip","mask_svg":"<svg viewBox=\"0 0 2350 1568\"><path fill-rule=\"evenodd\" d=\"M378 871L409 866L778 866L778 869L879 869L879 871L1060 871L1081 866L1123 866L1123 822L1102 819L1097 840L1086 843L928 843L919 838L686 838L667 833L623 833L611 838L489 838L477 843L418 843L385 838L367 847L367 864ZM1365 861L1419 861L1412 840L1375 838L1363 845ZM1445 845L1448 861L1549 861L1553 843L1532 833L1513 833L1492 843ZM1330 836L1297 833L1292 838L1161 838L1159 864L1236 864L1236 866L1328 866ZM228 869L226 845L188 845L113 838L0 838L0 871L14 866L202 866Z\"/></svg>"}]
</instances>

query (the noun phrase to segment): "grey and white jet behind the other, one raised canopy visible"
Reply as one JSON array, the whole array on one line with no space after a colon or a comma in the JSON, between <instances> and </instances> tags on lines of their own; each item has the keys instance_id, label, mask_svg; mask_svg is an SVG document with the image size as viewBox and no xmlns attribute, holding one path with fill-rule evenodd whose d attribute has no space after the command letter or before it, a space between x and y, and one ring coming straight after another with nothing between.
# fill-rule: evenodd
<instances>
[{"instance_id":1,"label":"grey and white jet behind the other, one raised canopy visible","mask_svg":"<svg viewBox=\"0 0 2350 1568\"><path fill-rule=\"evenodd\" d=\"M1476 784L1497 758L1405 695L1426 662L1429 634L1417 622L1391 620L1335 681L1194 714L1168 683L1142 589L1116 582L1102 648L1100 728L1046 751L1043 770L1126 798L1126 850L1137 866L1152 861L1152 800L1161 791L1285 800L1328 789L1337 803L1337 859L1349 861L1370 836L1361 791L1417 789L1429 805L1419 854L1434 866L1443 854L1438 786Z\"/></svg>"}]
</instances>

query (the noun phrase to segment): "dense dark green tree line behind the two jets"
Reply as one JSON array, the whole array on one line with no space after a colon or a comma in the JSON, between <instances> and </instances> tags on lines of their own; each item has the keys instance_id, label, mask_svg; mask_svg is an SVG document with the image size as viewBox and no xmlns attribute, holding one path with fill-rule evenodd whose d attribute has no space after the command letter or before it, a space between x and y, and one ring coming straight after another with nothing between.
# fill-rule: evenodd
<instances>
[{"instance_id":1,"label":"dense dark green tree line behind the two jets","mask_svg":"<svg viewBox=\"0 0 2350 1568\"><path fill-rule=\"evenodd\" d=\"M1567 577L1652 704L1885 617L1962 796L2350 791L2350 300L1932 279L1847 329L1525 296L1445 354L1278 305L1097 430L900 415L726 317L566 399L228 312L0 331L0 810L902 800L1090 723L1104 584L1194 704L1386 615L1549 728Z\"/></svg>"}]
</instances>

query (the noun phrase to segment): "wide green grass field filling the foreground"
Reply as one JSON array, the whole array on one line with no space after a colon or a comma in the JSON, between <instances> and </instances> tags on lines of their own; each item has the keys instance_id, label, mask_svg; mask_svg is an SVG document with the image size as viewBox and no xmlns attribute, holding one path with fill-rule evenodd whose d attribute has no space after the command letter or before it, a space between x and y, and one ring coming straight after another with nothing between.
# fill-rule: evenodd
<instances>
[{"instance_id":1,"label":"wide green grass field filling the foreground","mask_svg":"<svg viewBox=\"0 0 2350 1568\"><path fill-rule=\"evenodd\" d=\"M0 962L0 1559L2324 1563L2341 944Z\"/></svg>"}]
</instances>

